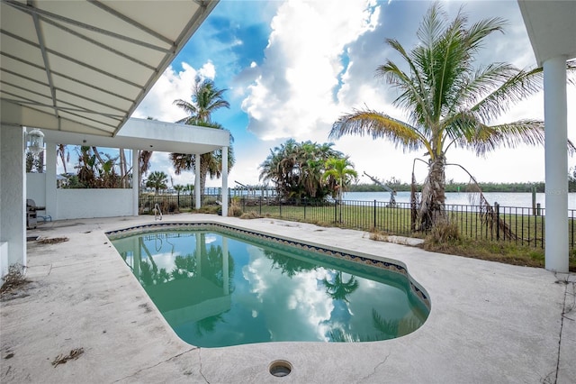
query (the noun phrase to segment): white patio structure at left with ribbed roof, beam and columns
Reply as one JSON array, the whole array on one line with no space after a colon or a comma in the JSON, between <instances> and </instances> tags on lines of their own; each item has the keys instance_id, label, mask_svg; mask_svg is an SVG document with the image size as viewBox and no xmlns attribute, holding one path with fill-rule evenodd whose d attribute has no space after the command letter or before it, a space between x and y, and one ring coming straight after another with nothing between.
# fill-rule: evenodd
<instances>
[{"instance_id":1,"label":"white patio structure at left with ribbed roof, beam and columns","mask_svg":"<svg viewBox=\"0 0 576 384\"><path fill-rule=\"evenodd\" d=\"M153 145L162 151L165 142L164 151L194 153L196 160L215 146L226 156L229 139L217 130L209 134L200 127L186 127L193 132L182 136L180 125L130 121L218 0L0 1L0 273L4 276L8 265L26 265L27 128L39 128L52 143L75 143L76 135L85 135L80 140L94 145L102 139L110 142L109 147L120 148L124 140L131 142L125 148ZM214 136L195 142L207 134ZM48 151L55 150L50 145ZM223 168L227 163L224 159ZM226 169L222 180L227 188ZM225 201L222 206L225 215Z\"/></svg>"}]
</instances>

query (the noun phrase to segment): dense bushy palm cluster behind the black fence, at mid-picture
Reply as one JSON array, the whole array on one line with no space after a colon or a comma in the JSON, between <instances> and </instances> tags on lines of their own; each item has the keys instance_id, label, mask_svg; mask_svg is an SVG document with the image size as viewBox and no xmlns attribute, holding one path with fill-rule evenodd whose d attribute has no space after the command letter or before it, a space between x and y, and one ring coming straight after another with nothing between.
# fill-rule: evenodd
<instances>
[{"instance_id":1,"label":"dense bushy palm cluster behind the black fence, at mid-picture","mask_svg":"<svg viewBox=\"0 0 576 384\"><path fill-rule=\"evenodd\" d=\"M350 182L351 173L346 171L340 178L329 169L344 161L344 168L352 164L340 151L332 149L332 143L295 142L290 139L270 150L260 164L260 180L271 181L281 197L323 199L336 197L339 189Z\"/></svg>"}]
</instances>

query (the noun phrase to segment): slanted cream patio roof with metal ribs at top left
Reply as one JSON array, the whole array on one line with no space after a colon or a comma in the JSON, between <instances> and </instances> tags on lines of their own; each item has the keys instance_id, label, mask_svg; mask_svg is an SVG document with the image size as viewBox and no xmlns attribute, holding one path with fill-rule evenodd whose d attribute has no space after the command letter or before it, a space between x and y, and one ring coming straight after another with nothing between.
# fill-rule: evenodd
<instances>
[{"instance_id":1,"label":"slanted cream patio roof with metal ribs at top left","mask_svg":"<svg viewBox=\"0 0 576 384\"><path fill-rule=\"evenodd\" d=\"M115 136L219 0L0 0L3 124Z\"/></svg>"}]
</instances>

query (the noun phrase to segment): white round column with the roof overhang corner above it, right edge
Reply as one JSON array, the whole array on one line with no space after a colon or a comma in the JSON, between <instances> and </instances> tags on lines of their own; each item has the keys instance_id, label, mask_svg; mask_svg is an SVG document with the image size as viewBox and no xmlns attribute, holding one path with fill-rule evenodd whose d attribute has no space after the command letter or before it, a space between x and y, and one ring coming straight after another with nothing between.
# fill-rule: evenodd
<instances>
[{"instance_id":1,"label":"white round column with the roof overhang corner above it, right edge","mask_svg":"<svg viewBox=\"0 0 576 384\"><path fill-rule=\"evenodd\" d=\"M518 0L545 92L545 268L569 270L566 60L576 58L576 1Z\"/></svg>"}]
</instances>

